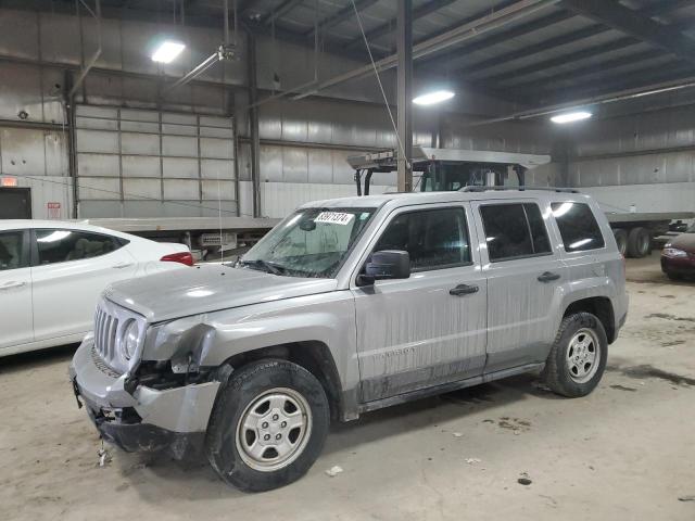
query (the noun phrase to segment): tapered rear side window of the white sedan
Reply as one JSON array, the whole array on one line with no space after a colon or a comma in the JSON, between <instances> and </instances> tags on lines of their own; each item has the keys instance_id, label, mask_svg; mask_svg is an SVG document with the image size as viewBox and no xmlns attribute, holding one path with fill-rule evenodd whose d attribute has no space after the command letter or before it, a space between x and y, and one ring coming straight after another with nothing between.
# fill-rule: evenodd
<instances>
[{"instance_id":1,"label":"tapered rear side window of the white sedan","mask_svg":"<svg viewBox=\"0 0 695 521\"><path fill-rule=\"evenodd\" d=\"M80 230L36 230L38 264L56 264L99 257L122 247L115 238Z\"/></svg>"}]
</instances>

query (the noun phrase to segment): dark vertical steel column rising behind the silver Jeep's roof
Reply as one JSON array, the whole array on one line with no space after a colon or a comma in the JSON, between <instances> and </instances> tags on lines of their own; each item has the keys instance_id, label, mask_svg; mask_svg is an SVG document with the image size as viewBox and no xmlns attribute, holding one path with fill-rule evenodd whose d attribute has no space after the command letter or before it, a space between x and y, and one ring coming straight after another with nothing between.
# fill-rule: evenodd
<instances>
[{"instance_id":1,"label":"dark vertical steel column rising behind the silver Jeep's roof","mask_svg":"<svg viewBox=\"0 0 695 521\"><path fill-rule=\"evenodd\" d=\"M401 0L397 25L399 192L413 190L413 2Z\"/></svg>"}]
</instances>

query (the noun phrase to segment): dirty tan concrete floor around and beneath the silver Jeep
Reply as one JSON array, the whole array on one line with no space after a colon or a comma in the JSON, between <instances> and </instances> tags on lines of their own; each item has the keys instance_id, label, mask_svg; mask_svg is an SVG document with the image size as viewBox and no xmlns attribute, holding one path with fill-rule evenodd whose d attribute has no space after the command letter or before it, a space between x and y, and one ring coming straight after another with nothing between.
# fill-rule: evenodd
<instances>
[{"instance_id":1,"label":"dirty tan concrete floor around and beneath the silver Jeep","mask_svg":"<svg viewBox=\"0 0 695 521\"><path fill-rule=\"evenodd\" d=\"M334 425L304 479L261 495L204 463L112 449L98 467L74 347L0 359L0 519L693 521L679 497L695 496L695 282L657 263L628 263L630 317L591 396L527 376L365 415Z\"/></svg>"}]
</instances>

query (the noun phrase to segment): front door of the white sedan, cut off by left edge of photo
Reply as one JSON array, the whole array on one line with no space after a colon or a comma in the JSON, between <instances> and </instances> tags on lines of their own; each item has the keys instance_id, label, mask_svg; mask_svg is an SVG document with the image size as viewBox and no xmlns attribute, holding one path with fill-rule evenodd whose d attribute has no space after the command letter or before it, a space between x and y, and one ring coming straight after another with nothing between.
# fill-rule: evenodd
<instances>
[{"instance_id":1,"label":"front door of the white sedan, cut off by left edge of photo","mask_svg":"<svg viewBox=\"0 0 695 521\"><path fill-rule=\"evenodd\" d=\"M33 340L29 232L0 231L0 350Z\"/></svg>"}]
</instances>

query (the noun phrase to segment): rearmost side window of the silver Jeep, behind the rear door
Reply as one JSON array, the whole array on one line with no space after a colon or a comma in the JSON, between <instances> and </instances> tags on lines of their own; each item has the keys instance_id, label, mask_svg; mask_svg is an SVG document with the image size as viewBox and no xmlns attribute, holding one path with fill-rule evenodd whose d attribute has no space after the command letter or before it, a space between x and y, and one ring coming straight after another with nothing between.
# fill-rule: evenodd
<instances>
[{"instance_id":1,"label":"rearmost side window of the silver Jeep, behind the rear door","mask_svg":"<svg viewBox=\"0 0 695 521\"><path fill-rule=\"evenodd\" d=\"M560 229L566 252L604 247L604 236L593 212L584 203L553 203L553 215Z\"/></svg>"}]
</instances>

